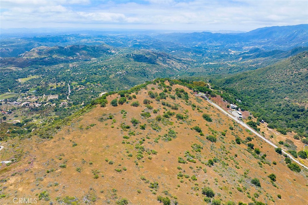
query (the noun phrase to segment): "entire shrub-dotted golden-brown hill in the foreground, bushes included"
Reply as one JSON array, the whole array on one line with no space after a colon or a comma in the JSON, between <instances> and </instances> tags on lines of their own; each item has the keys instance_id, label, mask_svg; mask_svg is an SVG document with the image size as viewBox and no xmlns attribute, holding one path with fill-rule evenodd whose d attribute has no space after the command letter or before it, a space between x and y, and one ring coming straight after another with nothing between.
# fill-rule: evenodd
<instances>
[{"instance_id":1,"label":"entire shrub-dotted golden-brown hill in the foreground, bushes included","mask_svg":"<svg viewBox=\"0 0 308 205\"><path fill-rule=\"evenodd\" d=\"M82 115L3 143L12 163L0 169L2 203L306 203L307 170L175 82L104 94Z\"/></svg>"}]
</instances>

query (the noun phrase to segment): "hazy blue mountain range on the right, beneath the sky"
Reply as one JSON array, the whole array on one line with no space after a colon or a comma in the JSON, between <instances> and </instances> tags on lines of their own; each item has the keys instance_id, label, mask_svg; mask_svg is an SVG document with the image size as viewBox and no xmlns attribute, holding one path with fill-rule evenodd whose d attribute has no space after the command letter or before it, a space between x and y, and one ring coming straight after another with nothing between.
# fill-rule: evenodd
<instances>
[{"instance_id":1,"label":"hazy blue mountain range on the right, beneath the sky","mask_svg":"<svg viewBox=\"0 0 308 205\"><path fill-rule=\"evenodd\" d=\"M296 26L272 26L259 28L246 33L172 33L159 34L156 38L163 41L181 44L228 45L237 44L243 47L287 50L296 46L308 45L308 24Z\"/></svg>"}]
</instances>

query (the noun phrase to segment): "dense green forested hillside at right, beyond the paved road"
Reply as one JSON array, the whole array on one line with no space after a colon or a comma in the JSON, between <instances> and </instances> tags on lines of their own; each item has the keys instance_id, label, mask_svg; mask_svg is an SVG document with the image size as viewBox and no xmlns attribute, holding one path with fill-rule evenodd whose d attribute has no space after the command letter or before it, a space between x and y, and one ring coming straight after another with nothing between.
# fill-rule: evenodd
<instances>
[{"instance_id":1,"label":"dense green forested hillside at right, beyond the paved road","mask_svg":"<svg viewBox=\"0 0 308 205\"><path fill-rule=\"evenodd\" d=\"M265 68L218 80L234 96L228 100L250 110L260 120L284 133L308 136L308 52ZM235 99L242 102L237 102Z\"/></svg>"}]
</instances>

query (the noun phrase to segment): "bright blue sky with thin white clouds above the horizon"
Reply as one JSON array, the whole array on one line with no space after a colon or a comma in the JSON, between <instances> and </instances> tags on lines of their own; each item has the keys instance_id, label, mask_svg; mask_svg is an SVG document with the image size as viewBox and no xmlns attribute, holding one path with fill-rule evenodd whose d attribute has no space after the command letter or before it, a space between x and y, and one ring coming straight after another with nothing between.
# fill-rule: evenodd
<instances>
[{"instance_id":1,"label":"bright blue sky with thin white clouds above the horizon","mask_svg":"<svg viewBox=\"0 0 308 205\"><path fill-rule=\"evenodd\" d=\"M308 0L1 0L1 28L241 30L308 23Z\"/></svg>"}]
</instances>

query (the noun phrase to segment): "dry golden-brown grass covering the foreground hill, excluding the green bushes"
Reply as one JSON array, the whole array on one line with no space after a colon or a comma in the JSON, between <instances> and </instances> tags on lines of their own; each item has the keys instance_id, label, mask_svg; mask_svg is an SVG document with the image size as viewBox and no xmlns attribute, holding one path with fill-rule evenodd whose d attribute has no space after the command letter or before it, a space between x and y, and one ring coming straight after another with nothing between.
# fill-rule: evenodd
<instances>
[{"instance_id":1,"label":"dry golden-brown grass covering the foreground hill, excluding the green bushes","mask_svg":"<svg viewBox=\"0 0 308 205\"><path fill-rule=\"evenodd\" d=\"M151 90L151 87L155 90ZM222 203L228 200L236 204L239 201L249 203L252 202L251 198L268 204L305 204L308 201L308 180L305 176L308 175L307 171L290 171L284 157L278 155L270 145L249 135L205 100L192 94L188 88L174 85L171 94L174 95L175 88L183 88L188 92L189 100L185 102L183 99L172 100L168 97L162 101L177 103L178 110L168 107L166 109L176 114L188 115L188 119L177 120L174 115L168 119L173 122L172 125L158 123L161 127L159 132L150 127L148 119L163 115L164 106L151 99L151 106L159 109L157 114L153 114L142 102L144 99L150 99L148 91L160 93L162 90L157 85L148 85L148 90L139 91L137 98L130 100L128 104L96 107L63 127L51 140L32 137L22 141L11 139L4 143L6 149L1 151L1 159L10 159L17 154L18 149L22 150L22 157L19 162L12 163L9 167L2 166L0 169L0 193L5 195L0 203L12 204L14 197L38 198L39 194L46 190L50 200L41 199L38 204L49 204L50 201L60 204L66 196L76 197L77 204L86 204L85 201L87 204L116 204L122 198L128 199L129 204L160 204L157 201L159 195L168 196L172 203L177 201L179 204L205 204L205 196L201 193L204 186L211 187L216 194L215 199L221 199ZM107 100L110 102L115 98L120 96L112 95ZM139 101L141 106L130 106L133 101ZM195 110L192 109L192 103L197 106ZM121 110L127 112L126 118L123 118ZM143 110L149 111L152 116L148 119L141 117ZM202 118L204 113L211 115L213 122L206 122ZM113 119L107 119L109 115L113 115ZM102 116L106 120L100 122L99 118ZM140 124L146 124L146 129L141 130L140 124L133 127L130 122L132 118L138 119ZM122 129L121 123L129 125L130 129ZM95 125L91 127L91 124ZM193 126L201 127L205 136L191 130ZM233 131L229 130L230 126L234 127ZM164 142L160 138L158 143L154 142L158 135L168 133L169 128L177 133L175 139ZM135 135L129 136L130 131L134 131ZM226 133L225 137L221 135L223 131ZM130 138L124 139L124 135ZM207 135L216 135L217 142L208 141ZM267 155L265 161L270 165L261 163L260 166L260 160L247 151L247 145L234 142L234 135L242 140L247 136L253 137L251 143L261 150L261 155ZM141 146L144 146L146 151L143 152L144 158L137 160L136 145L140 144L140 140L144 140ZM77 145L73 147L74 143ZM191 145L194 143L202 145L201 152L193 151ZM155 150L157 154L149 155L147 150ZM178 157L187 161L184 157L185 151L198 155L200 160L195 159L196 163L178 163ZM130 153L132 157L129 157ZM148 159L149 156L152 159ZM212 167L207 166L208 160L214 157L218 162ZM114 163L109 164L105 159ZM273 161L276 161L277 165L273 165ZM66 168L59 167L63 163ZM178 166L182 170L179 170ZM80 172L76 171L78 167ZM124 167L127 171L124 171ZM54 171L51 171L52 169ZM115 169L121 171L117 172ZM51 172L47 173L47 170ZM189 178L177 179L180 171L189 175ZM15 174L12 175L13 173ZM94 179L95 173L98 179ZM270 173L277 176L275 184L279 188L275 188L270 182L267 177ZM193 175L197 177L197 181L191 179ZM261 188L251 184L252 178L260 179ZM157 191L149 187L152 182L158 182ZM58 184L55 186L55 183ZM238 191L237 187L242 191ZM258 198L254 197L255 193L258 193ZM282 199L278 199L278 194Z\"/></svg>"}]
</instances>

